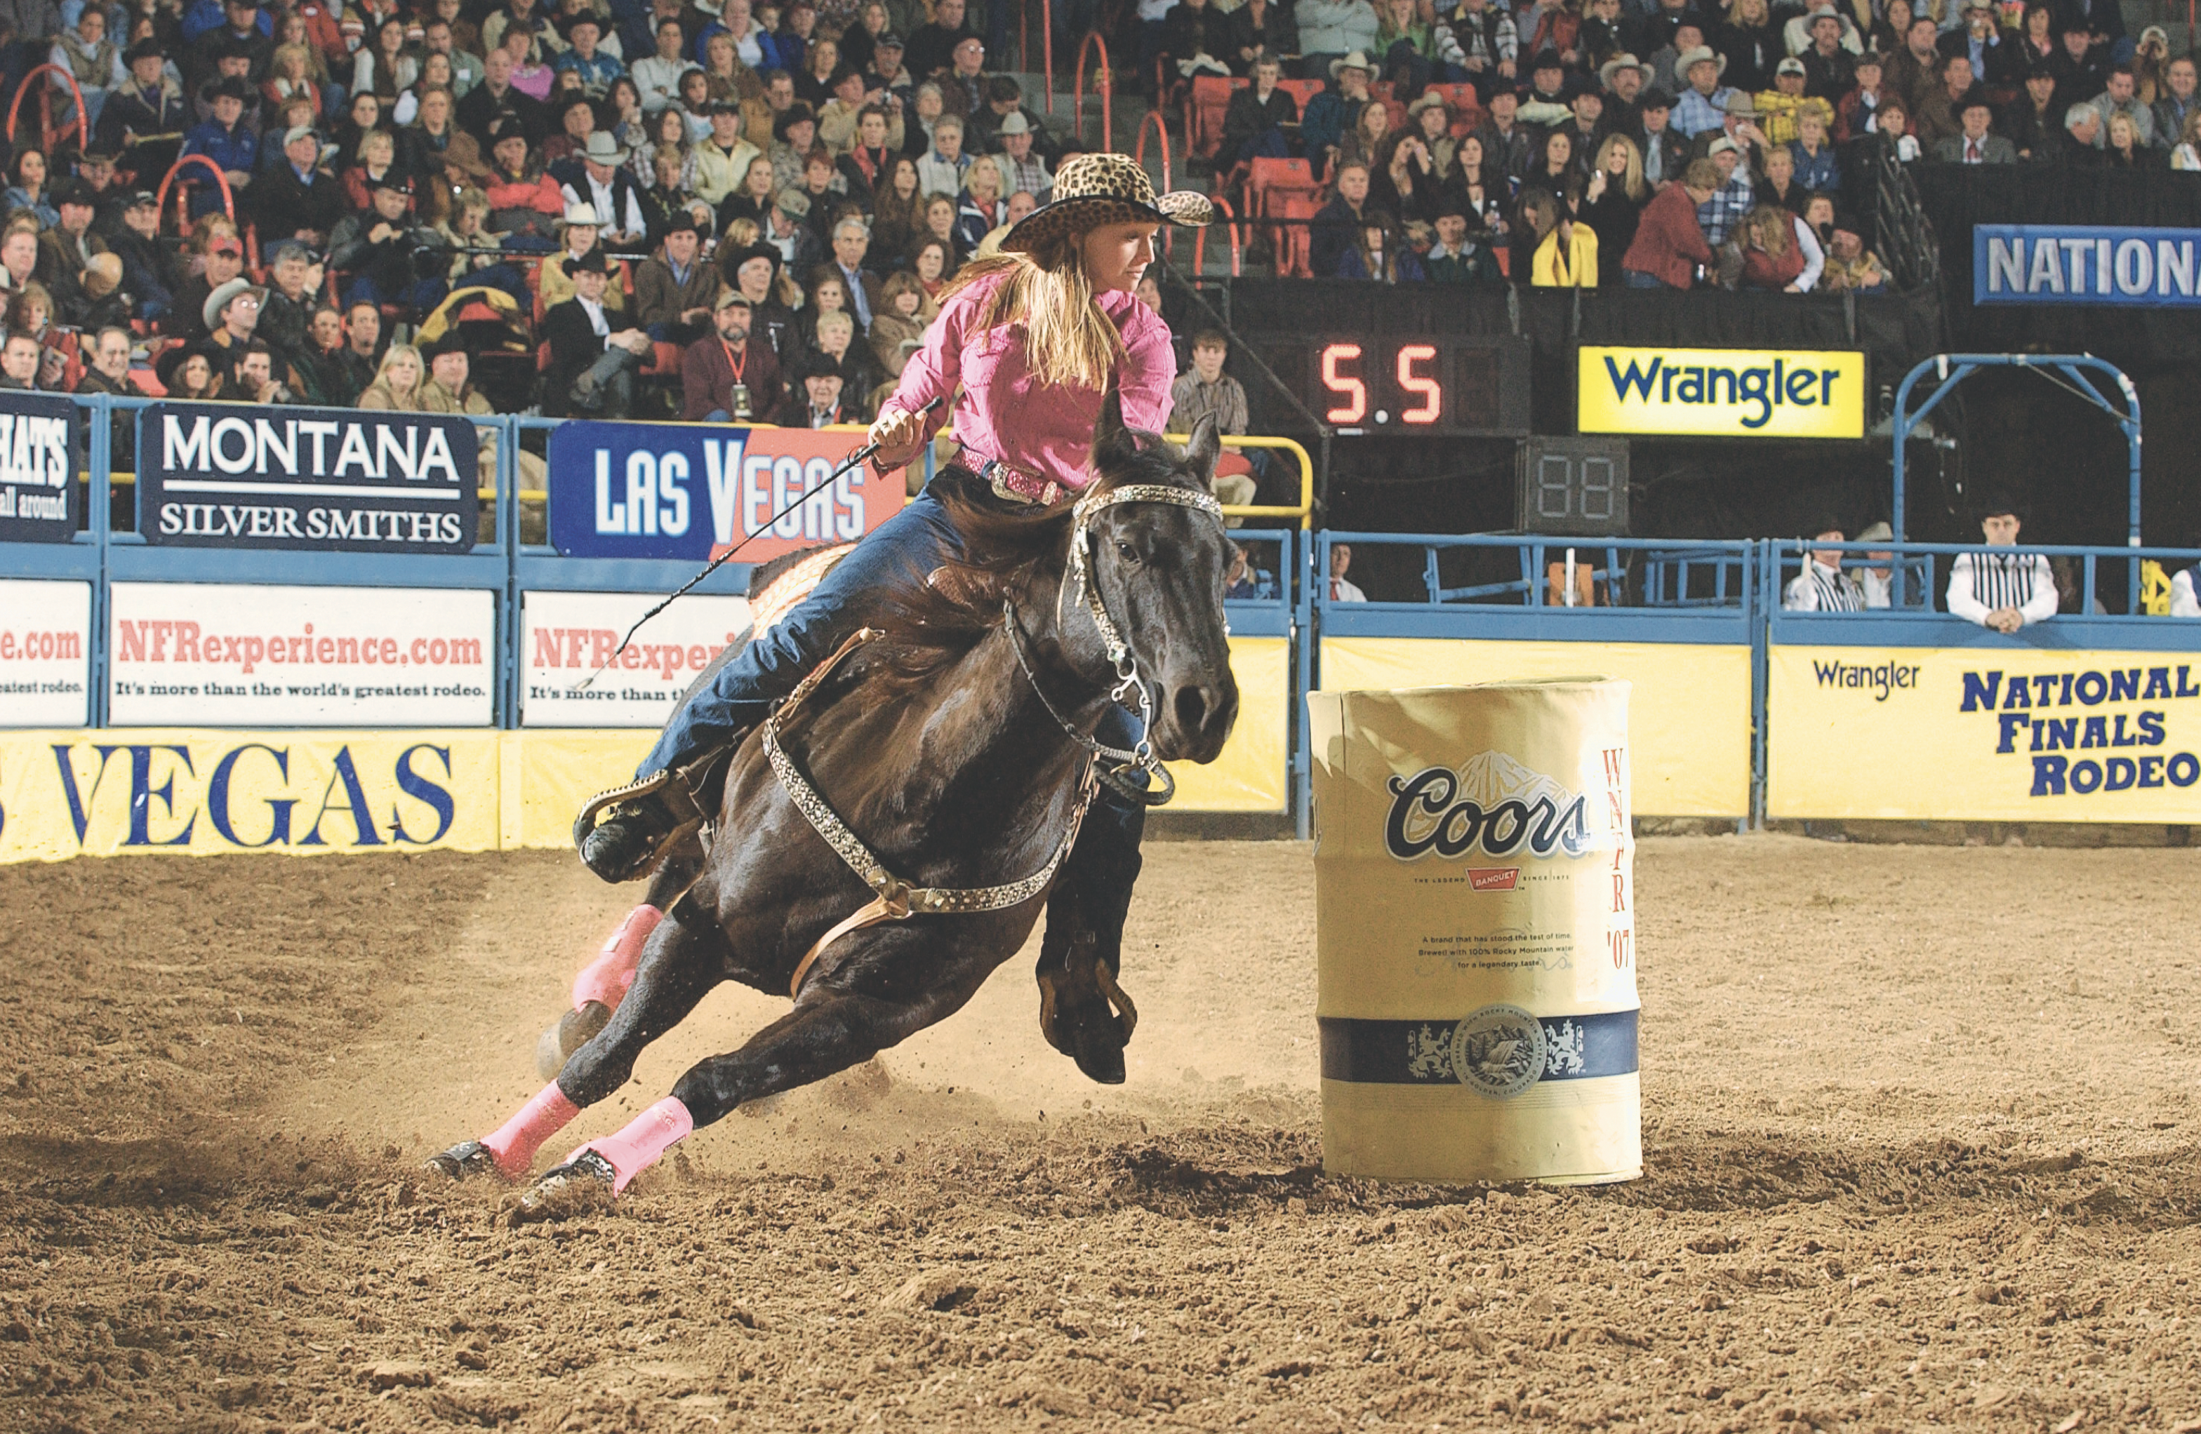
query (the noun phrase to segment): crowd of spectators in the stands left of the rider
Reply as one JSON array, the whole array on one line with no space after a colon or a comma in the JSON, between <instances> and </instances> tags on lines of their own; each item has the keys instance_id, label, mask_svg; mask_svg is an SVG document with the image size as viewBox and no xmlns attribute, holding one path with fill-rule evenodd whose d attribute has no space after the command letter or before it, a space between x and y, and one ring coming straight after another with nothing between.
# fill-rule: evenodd
<instances>
[{"instance_id":1,"label":"crowd of spectators in the stands left of the rider","mask_svg":"<svg viewBox=\"0 0 2201 1434\"><path fill-rule=\"evenodd\" d=\"M464 407L493 354L550 416L865 422L1076 147L979 11L9 0L9 81L77 90L7 156L7 323L44 389Z\"/></svg>"}]
</instances>

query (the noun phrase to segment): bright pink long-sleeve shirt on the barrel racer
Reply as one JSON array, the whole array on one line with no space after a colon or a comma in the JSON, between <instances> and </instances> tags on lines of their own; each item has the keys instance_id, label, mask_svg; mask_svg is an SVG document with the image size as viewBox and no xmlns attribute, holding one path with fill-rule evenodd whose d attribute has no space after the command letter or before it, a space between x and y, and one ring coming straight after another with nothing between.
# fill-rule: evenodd
<instances>
[{"instance_id":1,"label":"bright pink long-sleeve shirt on the barrel racer","mask_svg":"<svg viewBox=\"0 0 2201 1434\"><path fill-rule=\"evenodd\" d=\"M1081 493L1089 482L1087 457L1094 422L1107 394L1087 387L1041 385L1023 356L1023 328L982 328L986 306L1008 275L988 275L964 288L911 354L902 383L880 405L880 416L918 413L933 398L953 402L924 420L931 440L944 422L955 438L986 457ZM1129 293L1100 295L1100 312L1123 334L1129 354L1116 374L1127 427L1160 433L1169 422L1169 385L1178 378L1178 356L1169 326ZM960 389L960 391L957 391Z\"/></svg>"}]
</instances>

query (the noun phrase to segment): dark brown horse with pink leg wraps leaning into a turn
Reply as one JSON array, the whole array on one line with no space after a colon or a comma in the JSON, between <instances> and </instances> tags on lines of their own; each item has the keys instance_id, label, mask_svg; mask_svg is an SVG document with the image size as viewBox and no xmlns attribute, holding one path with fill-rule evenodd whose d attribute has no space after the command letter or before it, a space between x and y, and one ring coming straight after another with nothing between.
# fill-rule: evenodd
<instances>
[{"instance_id":1,"label":"dark brown horse with pink leg wraps leaning into a turn","mask_svg":"<svg viewBox=\"0 0 2201 1434\"><path fill-rule=\"evenodd\" d=\"M1145 688L1160 759L1213 761L1230 735L1217 451L1213 422L1180 451L1127 431L1109 398L1074 519L1006 521L986 493L951 495L968 565L931 574L883 614L891 636L843 649L742 743L704 871L643 944L610 1023L502 1130L431 1163L519 1179L722 981L792 988L795 1007L742 1049L698 1062L669 1100L577 1150L528 1201L574 1179L625 1188L691 1128L861 1065L960 1010L1048 902L1114 693L1140 706ZM839 849L834 823L845 825ZM979 889L1006 891L984 908L966 900ZM896 915L896 902L913 915ZM880 906L880 924L834 935ZM1043 970L1041 990L1043 1027L1096 1001L1105 1014L1118 996L1114 972L1076 952ZM1050 1040L1063 1045L1054 1029Z\"/></svg>"}]
</instances>

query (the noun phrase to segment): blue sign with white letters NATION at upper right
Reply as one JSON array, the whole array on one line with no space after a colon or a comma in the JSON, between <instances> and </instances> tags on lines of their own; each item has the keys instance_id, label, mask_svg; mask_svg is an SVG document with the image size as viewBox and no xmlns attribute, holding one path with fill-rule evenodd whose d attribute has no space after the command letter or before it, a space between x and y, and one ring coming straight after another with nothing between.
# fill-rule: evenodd
<instances>
[{"instance_id":1,"label":"blue sign with white letters NATION at upper right","mask_svg":"<svg viewBox=\"0 0 2201 1434\"><path fill-rule=\"evenodd\" d=\"M1972 304L2201 306L2201 229L1972 224Z\"/></svg>"}]
</instances>

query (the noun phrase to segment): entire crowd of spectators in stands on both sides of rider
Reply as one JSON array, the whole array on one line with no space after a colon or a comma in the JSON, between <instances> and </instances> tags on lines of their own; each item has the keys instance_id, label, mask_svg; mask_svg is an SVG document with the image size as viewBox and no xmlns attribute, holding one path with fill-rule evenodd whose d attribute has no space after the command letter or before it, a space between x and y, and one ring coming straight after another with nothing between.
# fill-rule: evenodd
<instances>
[{"instance_id":1,"label":"entire crowd of spectators in stands on both sides of rider","mask_svg":"<svg viewBox=\"0 0 2201 1434\"><path fill-rule=\"evenodd\" d=\"M1215 183L1310 161L1347 279L1871 290L1860 145L2201 167L2194 62L2115 0L1708 2L1140 0L1118 40L1156 99L1248 81ZM552 416L865 422L1076 150L975 9L4 0L0 77L59 66L88 134L7 154L7 328L46 389L462 409L495 356Z\"/></svg>"}]
</instances>

